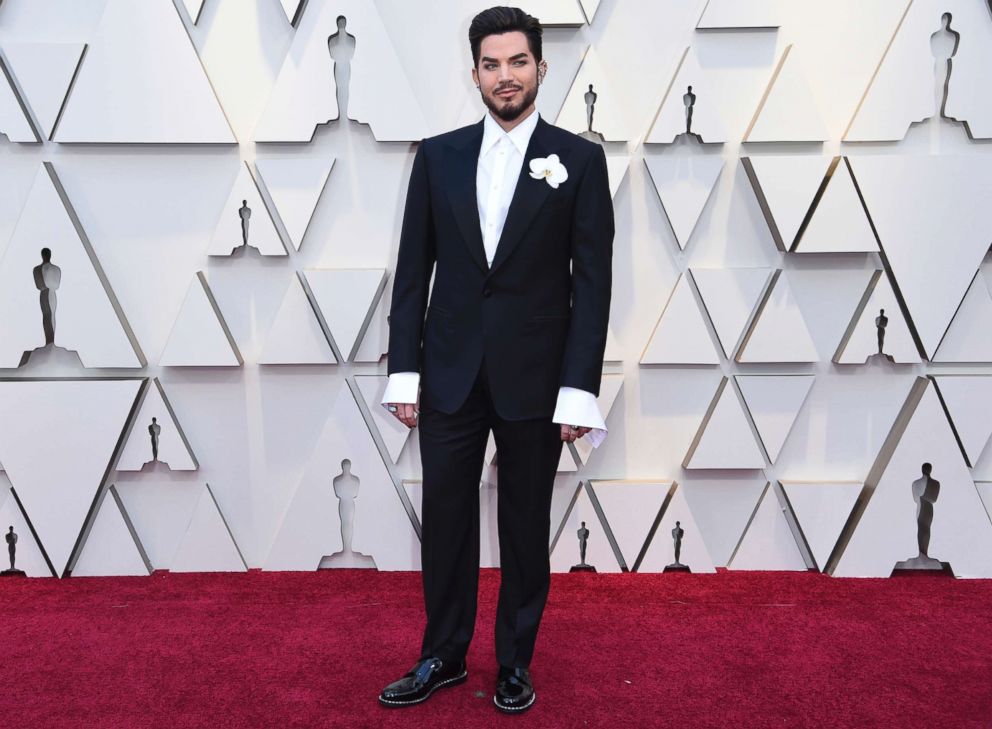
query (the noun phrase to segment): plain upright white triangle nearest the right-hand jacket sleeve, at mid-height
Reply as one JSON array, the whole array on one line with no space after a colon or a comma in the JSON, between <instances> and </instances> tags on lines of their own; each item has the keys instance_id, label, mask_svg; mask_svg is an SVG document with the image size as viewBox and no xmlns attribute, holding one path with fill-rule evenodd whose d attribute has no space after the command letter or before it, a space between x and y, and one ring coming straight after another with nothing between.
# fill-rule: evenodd
<instances>
[{"instance_id":1,"label":"plain upright white triangle nearest the right-hand jacket sleeve, at mid-height","mask_svg":"<svg viewBox=\"0 0 992 729\"><path fill-rule=\"evenodd\" d=\"M651 339L641 354L641 364L719 364L713 339L696 304L689 278L680 275Z\"/></svg>"}]
</instances>

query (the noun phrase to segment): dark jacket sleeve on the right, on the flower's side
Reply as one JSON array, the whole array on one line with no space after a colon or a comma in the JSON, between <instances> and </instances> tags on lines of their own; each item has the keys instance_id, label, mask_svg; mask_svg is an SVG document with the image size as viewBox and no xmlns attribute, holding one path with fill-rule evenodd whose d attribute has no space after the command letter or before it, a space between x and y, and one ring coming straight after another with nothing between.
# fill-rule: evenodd
<instances>
[{"instance_id":1,"label":"dark jacket sleeve on the right, on the flower's side","mask_svg":"<svg viewBox=\"0 0 992 729\"><path fill-rule=\"evenodd\" d=\"M606 154L596 145L576 191L572 218L572 316L562 387L599 395L613 281L613 196Z\"/></svg>"}]
</instances>

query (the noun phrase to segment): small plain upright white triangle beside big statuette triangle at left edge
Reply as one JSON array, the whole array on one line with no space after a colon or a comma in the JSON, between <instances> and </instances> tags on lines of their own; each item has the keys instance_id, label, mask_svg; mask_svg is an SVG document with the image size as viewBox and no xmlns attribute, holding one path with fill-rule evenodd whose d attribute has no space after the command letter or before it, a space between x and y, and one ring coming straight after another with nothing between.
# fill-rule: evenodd
<instances>
[{"instance_id":1,"label":"small plain upright white triangle beside big statuette triangle at left edge","mask_svg":"<svg viewBox=\"0 0 992 729\"><path fill-rule=\"evenodd\" d=\"M159 364L163 367L239 367L234 338L220 316L207 279L197 272L172 325Z\"/></svg>"}]
</instances>

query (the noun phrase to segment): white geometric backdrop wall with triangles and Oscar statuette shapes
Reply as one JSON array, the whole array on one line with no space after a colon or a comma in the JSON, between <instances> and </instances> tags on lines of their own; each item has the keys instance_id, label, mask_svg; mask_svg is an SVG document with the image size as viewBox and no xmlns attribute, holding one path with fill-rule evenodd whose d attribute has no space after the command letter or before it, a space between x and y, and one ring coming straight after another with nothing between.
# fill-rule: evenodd
<instances>
[{"instance_id":1,"label":"white geometric backdrop wall with triangles and Oscar statuette shapes","mask_svg":"<svg viewBox=\"0 0 992 729\"><path fill-rule=\"evenodd\" d=\"M419 568L417 436L376 405L389 274L415 143L482 116L466 33L486 5L309 0L293 25L288 0L0 2L0 521L19 566ZM524 7L553 26L541 114L581 132L598 93L617 219L610 433L563 458L555 568L585 520L601 571L661 569L680 519L694 571L887 576L917 553L929 461L930 556L992 576L988 5ZM945 11L956 48L931 42ZM675 136L688 84L701 141ZM263 255L229 255L243 199ZM45 246L71 351L18 366L44 344ZM879 308L894 362L866 363Z\"/></svg>"}]
</instances>

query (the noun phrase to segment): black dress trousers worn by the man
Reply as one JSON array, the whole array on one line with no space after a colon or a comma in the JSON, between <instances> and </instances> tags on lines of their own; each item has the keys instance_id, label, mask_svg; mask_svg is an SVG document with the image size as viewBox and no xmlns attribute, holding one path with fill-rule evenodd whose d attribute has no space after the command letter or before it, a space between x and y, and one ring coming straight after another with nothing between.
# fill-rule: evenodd
<instances>
[{"instance_id":1,"label":"black dress trousers worn by the man","mask_svg":"<svg viewBox=\"0 0 992 729\"><path fill-rule=\"evenodd\" d=\"M418 429L427 611L421 658L462 660L472 640L479 586L479 482L492 429L501 570L496 659L503 666L527 667L551 582L548 543L551 492L563 445L560 427L551 416L501 418L483 360L457 412L439 412L429 398L421 398Z\"/></svg>"}]
</instances>

